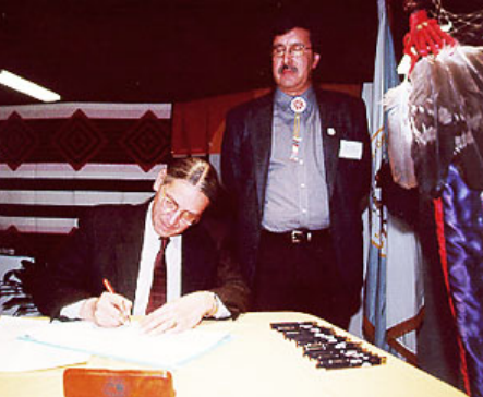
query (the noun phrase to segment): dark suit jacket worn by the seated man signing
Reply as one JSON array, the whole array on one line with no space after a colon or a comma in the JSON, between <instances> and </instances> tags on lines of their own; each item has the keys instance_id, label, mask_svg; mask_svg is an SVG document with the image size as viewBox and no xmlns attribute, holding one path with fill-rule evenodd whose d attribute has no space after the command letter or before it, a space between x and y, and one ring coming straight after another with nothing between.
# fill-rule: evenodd
<instances>
[{"instance_id":1,"label":"dark suit jacket worn by the seated man signing","mask_svg":"<svg viewBox=\"0 0 483 397\"><path fill-rule=\"evenodd\" d=\"M45 288L34 296L40 312L56 317L67 304L100 296L104 278L134 300L147 208L148 203L87 210L63 252L48 264ZM249 290L222 248L222 227L215 224L203 216L183 233L182 294L212 290L237 316L247 309Z\"/></svg>"}]
</instances>

